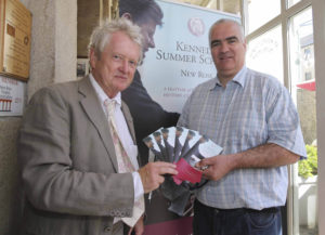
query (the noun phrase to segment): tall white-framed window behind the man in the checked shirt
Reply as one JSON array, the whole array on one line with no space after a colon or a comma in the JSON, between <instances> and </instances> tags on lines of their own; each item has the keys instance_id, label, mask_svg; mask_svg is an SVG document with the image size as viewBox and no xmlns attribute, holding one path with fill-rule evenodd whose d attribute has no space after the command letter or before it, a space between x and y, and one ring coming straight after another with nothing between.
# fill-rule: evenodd
<instances>
[{"instance_id":1,"label":"tall white-framed window behind the man in the checked shirt","mask_svg":"<svg viewBox=\"0 0 325 235\"><path fill-rule=\"evenodd\" d=\"M290 91L309 156L308 160L290 166L288 230L284 235L316 235L317 141L311 0L244 2L248 9L247 66L275 76Z\"/></svg>"}]
</instances>

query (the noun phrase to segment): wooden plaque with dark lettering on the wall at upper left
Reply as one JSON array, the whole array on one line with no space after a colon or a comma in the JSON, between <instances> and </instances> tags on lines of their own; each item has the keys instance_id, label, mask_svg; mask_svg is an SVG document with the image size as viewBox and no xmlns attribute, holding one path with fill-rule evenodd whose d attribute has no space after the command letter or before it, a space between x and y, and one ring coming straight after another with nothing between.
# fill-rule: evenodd
<instances>
[{"instance_id":1,"label":"wooden plaque with dark lettering on the wall at upper left","mask_svg":"<svg viewBox=\"0 0 325 235\"><path fill-rule=\"evenodd\" d=\"M29 77L31 13L18 0L0 1L0 74Z\"/></svg>"}]
</instances>

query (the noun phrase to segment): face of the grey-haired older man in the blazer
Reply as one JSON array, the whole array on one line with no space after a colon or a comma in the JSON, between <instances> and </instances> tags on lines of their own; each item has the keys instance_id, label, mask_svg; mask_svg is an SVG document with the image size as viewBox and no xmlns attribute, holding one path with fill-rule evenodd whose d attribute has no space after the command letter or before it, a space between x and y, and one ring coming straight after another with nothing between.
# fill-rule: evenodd
<instances>
[{"instance_id":1,"label":"face of the grey-haired older man in the blazer","mask_svg":"<svg viewBox=\"0 0 325 235\"><path fill-rule=\"evenodd\" d=\"M139 58L139 44L122 31L112 35L100 58L90 51L92 75L109 97L130 86Z\"/></svg>"}]
</instances>

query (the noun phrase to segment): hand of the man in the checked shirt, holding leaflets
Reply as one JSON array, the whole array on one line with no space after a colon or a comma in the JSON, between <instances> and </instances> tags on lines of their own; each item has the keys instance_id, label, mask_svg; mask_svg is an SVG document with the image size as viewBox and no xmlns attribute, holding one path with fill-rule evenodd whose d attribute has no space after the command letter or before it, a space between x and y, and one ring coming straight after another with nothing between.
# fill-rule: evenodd
<instances>
[{"instance_id":1,"label":"hand of the man in the checked shirt, holding leaflets","mask_svg":"<svg viewBox=\"0 0 325 235\"><path fill-rule=\"evenodd\" d=\"M195 167L203 170L203 177L218 181L234 169L232 155L217 155L198 161Z\"/></svg>"}]
</instances>

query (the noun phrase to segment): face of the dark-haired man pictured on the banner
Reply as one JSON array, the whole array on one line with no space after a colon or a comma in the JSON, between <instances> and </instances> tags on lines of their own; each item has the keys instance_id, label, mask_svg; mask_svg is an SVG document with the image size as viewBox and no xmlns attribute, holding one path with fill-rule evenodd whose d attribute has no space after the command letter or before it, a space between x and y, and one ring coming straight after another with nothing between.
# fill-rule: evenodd
<instances>
[{"instance_id":1,"label":"face of the dark-haired man pictured on the banner","mask_svg":"<svg viewBox=\"0 0 325 235\"><path fill-rule=\"evenodd\" d=\"M155 48L154 35L157 24L154 21L148 21L143 24L139 24L141 32L143 35L143 57L150 48Z\"/></svg>"}]
</instances>

